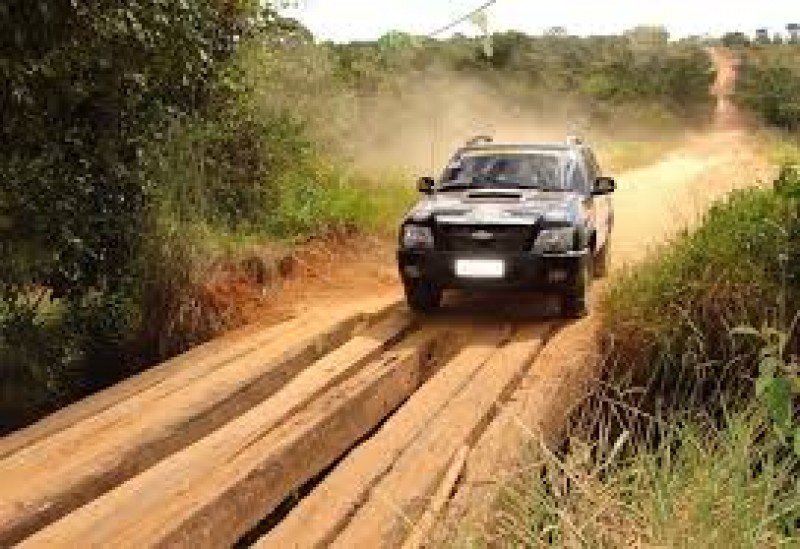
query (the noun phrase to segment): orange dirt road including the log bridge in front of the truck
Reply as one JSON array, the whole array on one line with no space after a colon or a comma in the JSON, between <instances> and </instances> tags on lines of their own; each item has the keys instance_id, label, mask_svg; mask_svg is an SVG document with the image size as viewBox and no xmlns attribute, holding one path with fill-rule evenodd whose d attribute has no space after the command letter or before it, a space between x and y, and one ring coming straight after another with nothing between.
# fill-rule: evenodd
<instances>
[{"instance_id":1,"label":"orange dirt road including the log bridge in front of the truck","mask_svg":"<svg viewBox=\"0 0 800 549\"><path fill-rule=\"evenodd\" d=\"M728 122L622 174L613 264L767 174ZM287 286L290 320L2 439L0 545L418 546L439 515L483 520L524 441L554 437L591 382L596 320L486 295L415 318L390 252L331 258Z\"/></svg>"}]
</instances>

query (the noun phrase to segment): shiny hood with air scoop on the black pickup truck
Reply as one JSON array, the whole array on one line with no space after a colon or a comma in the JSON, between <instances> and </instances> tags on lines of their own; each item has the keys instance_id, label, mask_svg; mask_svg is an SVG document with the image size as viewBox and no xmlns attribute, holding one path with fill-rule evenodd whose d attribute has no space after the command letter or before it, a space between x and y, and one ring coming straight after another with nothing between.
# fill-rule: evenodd
<instances>
[{"instance_id":1,"label":"shiny hood with air scoop on the black pickup truck","mask_svg":"<svg viewBox=\"0 0 800 549\"><path fill-rule=\"evenodd\" d=\"M535 225L540 220L577 223L582 196L535 189L472 189L435 193L408 214L415 223Z\"/></svg>"}]
</instances>

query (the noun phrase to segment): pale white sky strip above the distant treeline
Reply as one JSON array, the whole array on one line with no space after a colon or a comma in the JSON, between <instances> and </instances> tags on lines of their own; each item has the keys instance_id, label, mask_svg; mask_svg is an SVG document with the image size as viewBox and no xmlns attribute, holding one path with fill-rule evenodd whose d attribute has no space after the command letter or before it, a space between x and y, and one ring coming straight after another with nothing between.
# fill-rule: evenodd
<instances>
[{"instance_id":1,"label":"pale white sky strip above the distant treeline","mask_svg":"<svg viewBox=\"0 0 800 549\"><path fill-rule=\"evenodd\" d=\"M374 40L390 30L427 34L485 3L485 0L294 0L284 10L320 40ZM562 26L570 34L617 34L640 24L663 25L674 37L730 30L752 34L766 27L785 31L800 23L797 0L497 0L488 10L492 31L530 34ZM452 32L474 34L464 23ZM446 36L446 35L445 35Z\"/></svg>"}]
</instances>

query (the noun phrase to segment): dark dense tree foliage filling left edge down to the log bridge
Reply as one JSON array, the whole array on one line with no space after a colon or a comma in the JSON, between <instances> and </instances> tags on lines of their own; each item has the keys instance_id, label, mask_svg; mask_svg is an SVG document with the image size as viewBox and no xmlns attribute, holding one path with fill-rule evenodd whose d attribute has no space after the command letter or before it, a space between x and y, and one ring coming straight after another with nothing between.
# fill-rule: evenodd
<instances>
[{"instance_id":1,"label":"dark dense tree foliage filling left edge down to the log bridge","mask_svg":"<svg viewBox=\"0 0 800 549\"><path fill-rule=\"evenodd\" d=\"M238 1L0 6L4 427L19 414L8 402L35 410L73 381L87 390L118 375L99 367L121 361L135 312L145 150L210 103L218 67L270 17Z\"/></svg>"}]
</instances>

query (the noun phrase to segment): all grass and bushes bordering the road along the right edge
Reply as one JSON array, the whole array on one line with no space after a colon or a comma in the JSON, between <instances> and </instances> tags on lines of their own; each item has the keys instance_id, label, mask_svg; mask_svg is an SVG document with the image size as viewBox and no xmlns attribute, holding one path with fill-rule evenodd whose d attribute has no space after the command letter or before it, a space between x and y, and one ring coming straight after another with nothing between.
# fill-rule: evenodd
<instances>
[{"instance_id":1,"label":"all grass and bushes bordering the road along the right edge","mask_svg":"<svg viewBox=\"0 0 800 549\"><path fill-rule=\"evenodd\" d=\"M772 126L780 175L610 282L600 384L562 448L532 447L480 544L800 543L800 50L742 48L738 100Z\"/></svg>"}]
</instances>

